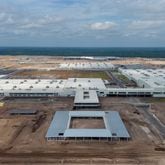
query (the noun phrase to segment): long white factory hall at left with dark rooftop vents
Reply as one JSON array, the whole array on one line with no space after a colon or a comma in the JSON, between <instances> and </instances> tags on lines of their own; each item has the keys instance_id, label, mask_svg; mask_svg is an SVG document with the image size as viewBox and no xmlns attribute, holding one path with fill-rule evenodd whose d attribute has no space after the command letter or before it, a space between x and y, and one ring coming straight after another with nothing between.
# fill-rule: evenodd
<instances>
[{"instance_id":1,"label":"long white factory hall at left with dark rooftop vents","mask_svg":"<svg viewBox=\"0 0 165 165\"><path fill-rule=\"evenodd\" d=\"M104 96L101 79L0 79L0 95L6 97L74 97L77 90L95 90Z\"/></svg>"}]
</instances>

